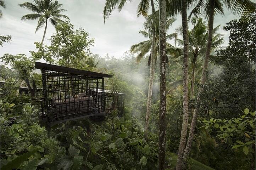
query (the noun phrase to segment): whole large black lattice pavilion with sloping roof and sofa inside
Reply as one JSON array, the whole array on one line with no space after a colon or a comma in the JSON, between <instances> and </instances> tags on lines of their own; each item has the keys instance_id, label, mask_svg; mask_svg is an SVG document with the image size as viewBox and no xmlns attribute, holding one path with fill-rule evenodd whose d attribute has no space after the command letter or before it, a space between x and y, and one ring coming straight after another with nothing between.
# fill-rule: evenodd
<instances>
[{"instance_id":1,"label":"whole large black lattice pavilion with sloping roof and sofa inside","mask_svg":"<svg viewBox=\"0 0 256 170\"><path fill-rule=\"evenodd\" d=\"M112 75L35 62L41 69L43 120L50 126L105 115L104 78Z\"/></svg>"}]
</instances>

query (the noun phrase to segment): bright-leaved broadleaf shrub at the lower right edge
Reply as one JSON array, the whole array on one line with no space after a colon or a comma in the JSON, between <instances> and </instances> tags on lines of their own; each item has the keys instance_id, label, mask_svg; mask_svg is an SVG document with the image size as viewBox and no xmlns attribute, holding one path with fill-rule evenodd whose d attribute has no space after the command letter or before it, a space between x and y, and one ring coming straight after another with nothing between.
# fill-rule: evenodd
<instances>
[{"instance_id":1,"label":"bright-leaved broadleaf shrub at the lower right edge","mask_svg":"<svg viewBox=\"0 0 256 170\"><path fill-rule=\"evenodd\" d=\"M250 158L250 168L255 168L255 111L250 112L244 109L243 114L239 114L239 118L233 119L213 119L204 120L204 126L200 129L216 128L218 130L217 137L229 142L232 149L239 149Z\"/></svg>"}]
</instances>

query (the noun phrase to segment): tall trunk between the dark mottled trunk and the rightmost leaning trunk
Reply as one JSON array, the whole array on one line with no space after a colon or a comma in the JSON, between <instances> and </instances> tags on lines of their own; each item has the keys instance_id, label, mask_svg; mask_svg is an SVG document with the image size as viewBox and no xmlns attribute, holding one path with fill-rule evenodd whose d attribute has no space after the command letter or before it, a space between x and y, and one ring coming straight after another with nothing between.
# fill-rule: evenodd
<instances>
[{"instance_id":1,"label":"tall trunk between the dark mottled trunk and the rightmost leaning trunk","mask_svg":"<svg viewBox=\"0 0 256 170\"><path fill-rule=\"evenodd\" d=\"M180 135L178 159L176 170L181 170L183 165L183 153L185 151L187 130L188 130L188 21L187 21L187 0L182 0L182 29L183 29L183 118Z\"/></svg>"}]
</instances>

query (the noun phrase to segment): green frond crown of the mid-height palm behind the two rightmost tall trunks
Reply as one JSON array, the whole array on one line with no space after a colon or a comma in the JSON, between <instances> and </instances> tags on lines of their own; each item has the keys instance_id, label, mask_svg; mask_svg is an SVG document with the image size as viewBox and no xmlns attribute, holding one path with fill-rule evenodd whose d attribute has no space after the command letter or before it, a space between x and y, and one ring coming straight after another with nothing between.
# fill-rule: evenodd
<instances>
[{"instance_id":1,"label":"green frond crown of the mid-height palm behind the two rightmost tall trunks","mask_svg":"<svg viewBox=\"0 0 256 170\"><path fill-rule=\"evenodd\" d=\"M207 48L207 39L208 39L208 28L206 26L206 22L203 21L202 18L191 18L191 24L194 26L193 29L188 30L188 38L189 38L189 78L192 82L194 80L195 74L198 74L203 67L205 52ZM223 34L218 33L220 26L217 26L213 29L213 37L212 37L212 47L211 51L213 52L218 47L220 47L224 40ZM179 26L176 29L177 33L182 35L182 26ZM172 56L172 62L170 67L175 63L182 67L183 61L183 40L177 39L178 47L167 47L166 52ZM210 55L210 62L214 64L216 63L215 55ZM168 89L176 87L182 84L182 79L175 80L168 83ZM192 85L193 86L193 85Z\"/></svg>"}]
</instances>

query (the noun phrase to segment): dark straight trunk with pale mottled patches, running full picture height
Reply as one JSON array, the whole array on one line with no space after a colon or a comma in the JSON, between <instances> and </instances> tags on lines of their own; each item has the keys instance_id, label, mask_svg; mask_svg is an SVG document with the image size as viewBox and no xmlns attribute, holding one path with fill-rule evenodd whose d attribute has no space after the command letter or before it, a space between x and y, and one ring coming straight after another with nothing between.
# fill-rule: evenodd
<instances>
[{"instance_id":1,"label":"dark straight trunk with pale mottled patches, running full picture height","mask_svg":"<svg viewBox=\"0 0 256 170\"><path fill-rule=\"evenodd\" d=\"M159 142L158 166L165 169L165 114L166 114L166 2L159 2L159 66L160 66L160 105L159 105Z\"/></svg>"}]
</instances>

